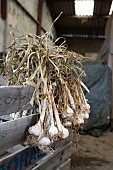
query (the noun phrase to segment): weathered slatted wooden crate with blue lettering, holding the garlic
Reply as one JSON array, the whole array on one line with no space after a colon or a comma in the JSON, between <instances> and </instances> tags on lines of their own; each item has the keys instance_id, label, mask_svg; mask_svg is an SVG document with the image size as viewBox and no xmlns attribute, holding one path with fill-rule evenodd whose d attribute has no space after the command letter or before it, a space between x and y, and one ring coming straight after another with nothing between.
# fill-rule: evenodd
<instances>
[{"instance_id":1,"label":"weathered slatted wooden crate with blue lettering, holding the garlic","mask_svg":"<svg viewBox=\"0 0 113 170\"><path fill-rule=\"evenodd\" d=\"M28 87L0 86L0 116L17 112L33 94ZM24 109L31 109L28 104ZM0 123L0 170L69 170L72 134L53 143L53 151L46 154L38 148L23 146L28 127L38 115ZM66 169L67 168L67 169Z\"/></svg>"}]
</instances>

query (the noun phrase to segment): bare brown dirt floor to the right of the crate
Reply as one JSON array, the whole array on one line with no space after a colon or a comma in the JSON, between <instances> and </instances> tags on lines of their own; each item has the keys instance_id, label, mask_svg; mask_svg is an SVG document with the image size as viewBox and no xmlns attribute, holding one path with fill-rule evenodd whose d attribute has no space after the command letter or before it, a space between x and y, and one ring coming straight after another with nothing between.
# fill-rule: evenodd
<instances>
[{"instance_id":1,"label":"bare brown dirt floor to the right of the crate","mask_svg":"<svg viewBox=\"0 0 113 170\"><path fill-rule=\"evenodd\" d=\"M71 170L113 170L113 132L79 135L77 148L73 141Z\"/></svg>"}]
</instances>

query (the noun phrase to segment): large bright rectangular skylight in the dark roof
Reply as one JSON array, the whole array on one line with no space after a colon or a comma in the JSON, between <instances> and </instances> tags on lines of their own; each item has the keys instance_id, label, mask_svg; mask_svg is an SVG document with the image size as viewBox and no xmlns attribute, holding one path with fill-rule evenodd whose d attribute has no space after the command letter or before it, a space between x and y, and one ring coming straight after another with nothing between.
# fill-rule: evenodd
<instances>
[{"instance_id":1,"label":"large bright rectangular skylight in the dark roof","mask_svg":"<svg viewBox=\"0 0 113 170\"><path fill-rule=\"evenodd\" d=\"M75 0L75 15L92 16L94 9L94 0Z\"/></svg>"}]
</instances>

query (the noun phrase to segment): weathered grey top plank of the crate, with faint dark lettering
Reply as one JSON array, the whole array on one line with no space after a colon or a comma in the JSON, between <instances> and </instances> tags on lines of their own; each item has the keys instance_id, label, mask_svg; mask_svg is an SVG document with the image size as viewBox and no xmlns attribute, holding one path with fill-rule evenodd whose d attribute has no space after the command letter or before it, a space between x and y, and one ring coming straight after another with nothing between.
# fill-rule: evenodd
<instances>
[{"instance_id":1,"label":"weathered grey top plank of the crate, with faint dark lettering","mask_svg":"<svg viewBox=\"0 0 113 170\"><path fill-rule=\"evenodd\" d=\"M31 109L34 89L26 86L0 86L0 115Z\"/></svg>"}]
</instances>

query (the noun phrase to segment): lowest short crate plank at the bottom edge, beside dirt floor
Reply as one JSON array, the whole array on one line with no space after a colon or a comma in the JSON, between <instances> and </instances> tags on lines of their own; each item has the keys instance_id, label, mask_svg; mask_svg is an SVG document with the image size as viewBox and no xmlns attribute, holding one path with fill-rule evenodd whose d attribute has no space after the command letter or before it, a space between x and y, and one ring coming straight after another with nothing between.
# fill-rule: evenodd
<instances>
[{"instance_id":1,"label":"lowest short crate plank at the bottom edge, beside dirt floor","mask_svg":"<svg viewBox=\"0 0 113 170\"><path fill-rule=\"evenodd\" d=\"M56 170L70 170L71 159L69 158L67 161L62 163Z\"/></svg>"}]
</instances>

